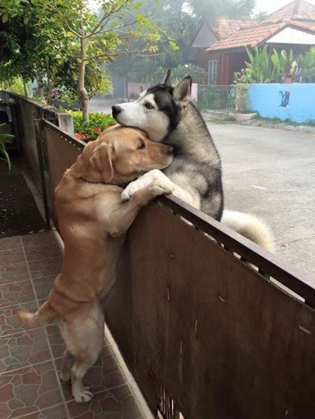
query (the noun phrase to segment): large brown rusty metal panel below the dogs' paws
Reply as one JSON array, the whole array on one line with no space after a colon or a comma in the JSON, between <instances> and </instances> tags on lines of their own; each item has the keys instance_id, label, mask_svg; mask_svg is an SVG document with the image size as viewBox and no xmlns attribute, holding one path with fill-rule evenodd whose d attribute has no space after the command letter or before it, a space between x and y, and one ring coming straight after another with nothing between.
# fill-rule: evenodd
<instances>
[{"instance_id":1,"label":"large brown rusty metal panel below the dogs' paws","mask_svg":"<svg viewBox=\"0 0 315 419\"><path fill-rule=\"evenodd\" d=\"M186 419L314 418L312 308L156 205L134 222L129 253L123 352L139 384L139 371L154 377Z\"/></svg>"}]
</instances>

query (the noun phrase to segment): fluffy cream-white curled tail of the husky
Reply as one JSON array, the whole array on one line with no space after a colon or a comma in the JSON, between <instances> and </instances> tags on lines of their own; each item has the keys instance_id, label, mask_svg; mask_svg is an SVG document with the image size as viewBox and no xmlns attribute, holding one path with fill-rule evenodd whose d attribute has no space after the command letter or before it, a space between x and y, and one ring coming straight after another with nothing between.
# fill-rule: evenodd
<instances>
[{"instance_id":1,"label":"fluffy cream-white curled tail of the husky","mask_svg":"<svg viewBox=\"0 0 315 419\"><path fill-rule=\"evenodd\" d=\"M271 229L255 215L224 210L221 222L264 249L274 251Z\"/></svg>"}]
</instances>

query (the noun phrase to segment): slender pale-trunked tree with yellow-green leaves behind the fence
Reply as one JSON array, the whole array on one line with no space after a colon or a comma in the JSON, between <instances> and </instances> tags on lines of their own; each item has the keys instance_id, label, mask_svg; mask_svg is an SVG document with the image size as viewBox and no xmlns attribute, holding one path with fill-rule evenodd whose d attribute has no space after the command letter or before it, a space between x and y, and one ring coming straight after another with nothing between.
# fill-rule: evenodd
<instances>
[{"instance_id":1,"label":"slender pale-trunked tree with yellow-green leaves behind the fence","mask_svg":"<svg viewBox=\"0 0 315 419\"><path fill-rule=\"evenodd\" d=\"M89 119L89 93L86 73L89 66L101 71L102 64L124 55L147 55L157 52L161 31L140 12L135 0L100 0L100 14L93 12L83 0L39 1L42 12L39 21L48 19L55 24L55 33L65 31L70 39L69 56L78 63L78 93L84 121ZM123 16L135 15L125 21ZM142 39L141 47L135 46Z\"/></svg>"}]
</instances>

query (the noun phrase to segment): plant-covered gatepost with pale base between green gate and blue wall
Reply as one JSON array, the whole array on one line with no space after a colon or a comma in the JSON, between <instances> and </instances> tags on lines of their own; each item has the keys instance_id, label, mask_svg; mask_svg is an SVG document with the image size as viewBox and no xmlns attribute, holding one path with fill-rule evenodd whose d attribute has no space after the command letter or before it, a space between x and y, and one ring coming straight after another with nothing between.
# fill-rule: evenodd
<instances>
[{"instance_id":1,"label":"plant-covered gatepost with pale base between green gate and blue wall","mask_svg":"<svg viewBox=\"0 0 315 419\"><path fill-rule=\"evenodd\" d=\"M257 113L248 112L247 109L250 79L251 74L249 69L242 69L234 74L235 112L230 112L229 116L238 122L249 121L257 115Z\"/></svg>"}]
</instances>

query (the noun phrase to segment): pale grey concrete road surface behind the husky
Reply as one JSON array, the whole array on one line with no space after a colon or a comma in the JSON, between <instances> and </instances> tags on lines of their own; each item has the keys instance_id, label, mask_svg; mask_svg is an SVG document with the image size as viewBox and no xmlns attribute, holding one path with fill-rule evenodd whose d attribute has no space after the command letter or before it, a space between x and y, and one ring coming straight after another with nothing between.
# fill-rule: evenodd
<instances>
[{"instance_id":1,"label":"pale grey concrete road surface behind the husky","mask_svg":"<svg viewBox=\"0 0 315 419\"><path fill-rule=\"evenodd\" d=\"M273 229L277 253L315 282L315 135L208 125L222 157L226 208Z\"/></svg>"}]
</instances>

